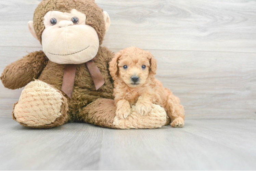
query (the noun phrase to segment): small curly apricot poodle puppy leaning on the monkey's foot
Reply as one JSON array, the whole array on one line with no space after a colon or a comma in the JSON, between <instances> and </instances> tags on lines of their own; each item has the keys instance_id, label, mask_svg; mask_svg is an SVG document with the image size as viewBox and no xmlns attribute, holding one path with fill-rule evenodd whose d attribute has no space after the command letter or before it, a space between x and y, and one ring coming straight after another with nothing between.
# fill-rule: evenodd
<instances>
[{"instance_id":1,"label":"small curly apricot poodle puppy leaning on the monkey's foot","mask_svg":"<svg viewBox=\"0 0 256 171\"><path fill-rule=\"evenodd\" d=\"M148 114L152 103L166 110L172 127L184 126L184 108L178 97L155 79L156 59L147 51L136 47L118 52L109 63L114 80L116 116L125 119L136 106L137 113Z\"/></svg>"}]
</instances>

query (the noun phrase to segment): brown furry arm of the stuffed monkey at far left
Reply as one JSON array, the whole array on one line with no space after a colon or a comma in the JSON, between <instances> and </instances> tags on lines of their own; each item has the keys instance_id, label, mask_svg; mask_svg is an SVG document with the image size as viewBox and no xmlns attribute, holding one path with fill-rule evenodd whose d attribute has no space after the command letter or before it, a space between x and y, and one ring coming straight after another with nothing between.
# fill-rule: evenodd
<instances>
[{"instance_id":1,"label":"brown furry arm of the stuffed monkey at far left","mask_svg":"<svg viewBox=\"0 0 256 171\"><path fill-rule=\"evenodd\" d=\"M31 52L20 60L6 66L1 75L4 87L18 89L37 79L46 66L48 58L43 51Z\"/></svg>"}]
</instances>

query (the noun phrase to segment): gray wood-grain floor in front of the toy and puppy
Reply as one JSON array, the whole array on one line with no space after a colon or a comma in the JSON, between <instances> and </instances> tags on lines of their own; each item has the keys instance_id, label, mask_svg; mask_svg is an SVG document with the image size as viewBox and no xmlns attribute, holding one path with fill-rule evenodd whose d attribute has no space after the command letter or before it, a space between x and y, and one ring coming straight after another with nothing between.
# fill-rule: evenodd
<instances>
[{"instance_id":1,"label":"gray wood-grain floor in front of the toy and puppy","mask_svg":"<svg viewBox=\"0 0 256 171\"><path fill-rule=\"evenodd\" d=\"M87 123L29 129L0 118L1 170L255 170L256 120L187 120L184 128Z\"/></svg>"}]
</instances>

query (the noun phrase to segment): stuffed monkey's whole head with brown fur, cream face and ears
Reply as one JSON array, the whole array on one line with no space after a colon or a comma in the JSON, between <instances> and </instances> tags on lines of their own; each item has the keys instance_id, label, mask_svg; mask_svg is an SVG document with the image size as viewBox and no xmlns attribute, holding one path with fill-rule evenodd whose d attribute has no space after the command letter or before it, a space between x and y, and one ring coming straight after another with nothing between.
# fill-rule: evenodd
<instances>
[{"instance_id":1,"label":"stuffed monkey's whole head with brown fur, cream face and ears","mask_svg":"<svg viewBox=\"0 0 256 171\"><path fill-rule=\"evenodd\" d=\"M94 0L43 0L28 22L31 34L40 41L50 61L81 64L98 53L110 27L107 12Z\"/></svg>"}]
</instances>

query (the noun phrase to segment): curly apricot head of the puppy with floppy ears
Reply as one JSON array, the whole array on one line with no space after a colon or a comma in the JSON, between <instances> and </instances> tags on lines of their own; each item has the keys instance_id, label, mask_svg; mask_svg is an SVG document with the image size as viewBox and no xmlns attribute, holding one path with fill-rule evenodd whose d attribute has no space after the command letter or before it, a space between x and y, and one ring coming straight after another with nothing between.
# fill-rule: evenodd
<instances>
[{"instance_id":1,"label":"curly apricot head of the puppy with floppy ears","mask_svg":"<svg viewBox=\"0 0 256 171\"><path fill-rule=\"evenodd\" d=\"M120 79L129 87L138 87L156 74L156 59L150 52L130 47L115 55L109 70L114 80Z\"/></svg>"}]
</instances>

